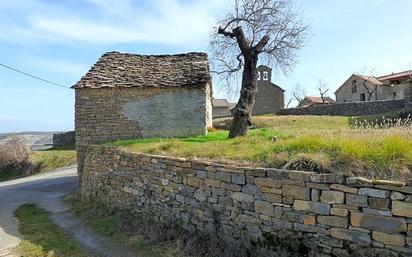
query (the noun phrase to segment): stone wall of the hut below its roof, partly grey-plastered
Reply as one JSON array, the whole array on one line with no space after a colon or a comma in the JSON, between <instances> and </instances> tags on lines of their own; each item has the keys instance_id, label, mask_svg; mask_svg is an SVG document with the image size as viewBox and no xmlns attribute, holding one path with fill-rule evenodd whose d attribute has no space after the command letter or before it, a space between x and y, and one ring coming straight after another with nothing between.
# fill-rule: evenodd
<instances>
[{"instance_id":1,"label":"stone wall of the hut below its roof, partly grey-plastered","mask_svg":"<svg viewBox=\"0 0 412 257\"><path fill-rule=\"evenodd\" d=\"M76 89L78 171L93 143L142 137L182 137L212 126L210 86ZM81 186L81 176L80 176Z\"/></svg>"}]
</instances>

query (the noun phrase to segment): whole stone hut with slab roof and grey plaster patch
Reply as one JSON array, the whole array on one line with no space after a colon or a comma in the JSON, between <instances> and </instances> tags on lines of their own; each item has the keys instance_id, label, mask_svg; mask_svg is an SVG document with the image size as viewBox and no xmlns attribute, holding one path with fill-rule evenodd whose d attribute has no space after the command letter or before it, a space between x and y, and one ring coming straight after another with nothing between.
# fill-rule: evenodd
<instances>
[{"instance_id":1,"label":"whole stone hut with slab roof and grey plaster patch","mask_svg":"<svg viewBox=\"0 0 412 257\"><path fill-rule=\"evenodd\" d=\"M79 173L89 144L206 134L212 126L205 53L108 52L72 88Z\"/></svg>"}]
</instances>

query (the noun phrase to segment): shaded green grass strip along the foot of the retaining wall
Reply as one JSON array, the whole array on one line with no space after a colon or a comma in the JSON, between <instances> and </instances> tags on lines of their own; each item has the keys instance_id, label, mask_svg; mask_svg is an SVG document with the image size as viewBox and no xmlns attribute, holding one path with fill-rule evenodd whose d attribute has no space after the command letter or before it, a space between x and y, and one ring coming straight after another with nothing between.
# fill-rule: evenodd
<instances>
[{"instance_id":1,"label":"shaded green grass strip along the foot of the retaining wall","mask_svg":"<svg viewBox=\"0 0 412 257\"><path fill-rule=\"evenodd\" d=\"M93 231L133 250L139 257L186 257L180 249L178 230L159 230L151 218L99 203L68 199L72 212ZM168 233L174 235L168 235Z\"/></svg>"}]
</instances>

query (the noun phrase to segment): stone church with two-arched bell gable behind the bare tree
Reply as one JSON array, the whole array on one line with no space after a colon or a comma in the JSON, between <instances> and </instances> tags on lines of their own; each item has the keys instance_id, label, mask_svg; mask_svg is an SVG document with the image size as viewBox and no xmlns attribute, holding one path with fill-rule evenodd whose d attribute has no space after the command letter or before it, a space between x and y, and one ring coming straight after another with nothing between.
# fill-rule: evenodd
<instances>
[{"instance_id":1,"label":"stone church with two-arched bell gable behind the bare tree","mask_svg":"<svg viewBox=\"0 0 412 257\"><path fill-rule=\"evenodd\" d=\"M278 85L272 83L272 69L260 65L258 67L258 81L255 105L253 115L275 113L284 108L285 100L283 90Z\"/></svg>"}]
</instances>

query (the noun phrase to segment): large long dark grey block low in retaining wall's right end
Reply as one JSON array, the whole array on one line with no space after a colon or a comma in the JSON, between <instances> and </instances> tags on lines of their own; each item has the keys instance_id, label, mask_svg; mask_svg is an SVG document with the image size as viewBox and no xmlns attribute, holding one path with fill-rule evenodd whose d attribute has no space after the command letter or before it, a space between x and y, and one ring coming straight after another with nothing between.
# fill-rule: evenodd
<instances>
[{"instance_id":1,"label":"large long dark grey block low in retaining wall's right end","mask_svg":"<svg viewBox=\"0 0 412 257\"><path fill-rule=\"evenodd\" d=\"M351 213L351 224L380 232L395 234L407 231L406 220L395 217L380 217L363 213Z\"/></svg>"}]
</instances>

